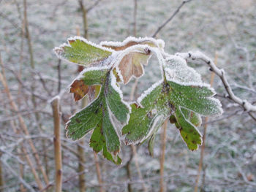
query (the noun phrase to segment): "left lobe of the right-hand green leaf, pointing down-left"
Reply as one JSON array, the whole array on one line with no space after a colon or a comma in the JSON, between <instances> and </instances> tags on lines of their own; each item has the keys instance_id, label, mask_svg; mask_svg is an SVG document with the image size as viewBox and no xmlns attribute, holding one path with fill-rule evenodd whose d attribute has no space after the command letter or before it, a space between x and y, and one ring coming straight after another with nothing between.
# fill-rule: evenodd
<instances>
[{"instance_id":1,"label":"left lobe of the right-hand green leaf, pointing down-left","mask_svg":"<svg viewBox=\"0 0 256 192\"><path fill-rule=\"evenodd\" d=\"M122 129L127 145L150 137L173 111L162 82L154 84L140 99L141 106L131 104L129 123Z\"/></svg>"}]
</instances>

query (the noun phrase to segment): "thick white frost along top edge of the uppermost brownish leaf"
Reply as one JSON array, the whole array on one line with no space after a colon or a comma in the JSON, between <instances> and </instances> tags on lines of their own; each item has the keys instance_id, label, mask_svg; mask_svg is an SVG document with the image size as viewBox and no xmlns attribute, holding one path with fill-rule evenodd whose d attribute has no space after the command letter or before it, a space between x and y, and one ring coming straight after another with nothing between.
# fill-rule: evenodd
<instances>
[{"instance_id":1,"label":"thick white frost along top edge of the uppermost brownish leaf","mask_svg":"<svg viewBox=\"0 0 256 192\"><path fill-rule=\"evenodd\" d=\"M153 42L154 45L156 45L157 47L159 48L164 48L165 47L165 42L162 40L162 39L154 39L152 37L127 37L127 39L124 39L123 42L107 42L107 41L104 41L104 42L100 42L99 45L105 45L105 46L109 46L109 47L122 47L124 45L127 45L128 42L137 42L137 43L140 43L140 42L144 42L144 41L150 41L150 42ZM133 45L134 46L134 45Z\"/></svg>"}]
</instances>

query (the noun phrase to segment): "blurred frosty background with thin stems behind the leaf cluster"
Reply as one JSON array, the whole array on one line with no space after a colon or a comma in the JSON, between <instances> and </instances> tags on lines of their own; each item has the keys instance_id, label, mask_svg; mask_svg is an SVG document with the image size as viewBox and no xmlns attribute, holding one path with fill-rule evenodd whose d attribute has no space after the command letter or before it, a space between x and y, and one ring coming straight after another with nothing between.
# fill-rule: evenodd
<instances>
[{"instance_id":1,"label":"blurred frosty background with thin stems behind the leaf cluster","mask_svg":"<svg viewBox=\"0 0 256 192\"><path fill-rule=\"evenodd\" d=\"M225 112L200 127L202 134L206 131L202 165L202 147L189 151L171 124L165 150L159 130L154 157L146 142L136 147L122 143L120 166L91 150L90 134L78 142L65 137L65 122L82 107L67 89L79 70L59 61L53 48L75 35L95 43L151 37L182 2L0 0L0 191L53 191L50 99L58 94L63 191L256 191L256 114L228 99L219 77L212 84ZM255 0L188 1L156 38L165 41L170 54L202 51L225 69L236 96L256 104ZM154 63L146 67L135 98L159 79ZM208 66L189 66L210 82ZM134 81L123 88L124 99L129 100Z\"/></svg>"}]
</instances>

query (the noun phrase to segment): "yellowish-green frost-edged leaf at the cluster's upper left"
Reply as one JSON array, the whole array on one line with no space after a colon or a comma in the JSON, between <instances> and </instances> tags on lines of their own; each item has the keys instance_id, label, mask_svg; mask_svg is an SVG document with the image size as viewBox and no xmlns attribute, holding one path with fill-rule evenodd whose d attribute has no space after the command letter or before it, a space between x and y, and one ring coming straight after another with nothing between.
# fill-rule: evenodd
<instances>
[{"instance_id":1,"label":"yellowish-green frost-edged leaf at the cluster's upper left","mask_svg":"<svg viewBox=\"0 0 256 192\"><path fill-rule=\"evenodd\" d=\"M67 61L82 64L83 66L102 66L111 54L112 50L95 45L83 37L67 39L68 44L61 45L54 49L59 58Z\"/></svg>"}]
</instances>

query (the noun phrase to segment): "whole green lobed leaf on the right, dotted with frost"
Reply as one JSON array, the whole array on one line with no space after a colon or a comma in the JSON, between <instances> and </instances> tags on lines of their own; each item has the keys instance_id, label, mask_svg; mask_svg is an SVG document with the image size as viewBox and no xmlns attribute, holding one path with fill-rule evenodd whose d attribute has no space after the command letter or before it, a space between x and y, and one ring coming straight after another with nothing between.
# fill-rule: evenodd
<instances>
[{"instance_id":1,"label":"whole green lobed leaf on the right, dotted with frost","mask_svg":"<svg viewBox=\"0 0 256 192\"><path fill-rule=\"evenodd\" d=\"M189 149L197 149L197 145L201 144L201 135L196 128L201 120L197 113L219 115L222 112L219 101L212 98L213 95L208 85L185 85L162 80L140 96L139 106L131 104L129 123L122 129L122 134L126 134L125 142L143 142L170 118L170 122L176 123L180 129Z\"/></svg>"}]
</instances>

